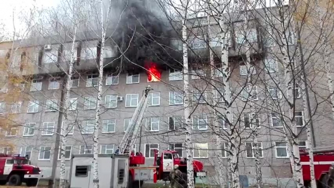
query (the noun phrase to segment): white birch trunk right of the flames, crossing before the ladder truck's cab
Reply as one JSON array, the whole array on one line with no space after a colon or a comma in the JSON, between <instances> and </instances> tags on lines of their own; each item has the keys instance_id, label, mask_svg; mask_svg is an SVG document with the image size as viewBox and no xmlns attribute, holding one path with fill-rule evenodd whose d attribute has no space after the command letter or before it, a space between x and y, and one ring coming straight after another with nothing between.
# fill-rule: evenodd
<instances>
[{"instance_id":1,"label":"white birch trunk right of the flames, crossing before the ladder truck's cab","mask_svg":"<svg viewBox=\"0 0 334 188\"><path fill-rule=\"evenodd\" d=\"M187 5L187 3L185 4ZM186 8L185 8L186 9ZM187 46L187 26L186 11L184 11L184 20L182 20L182 39L183 39L183 90L184 90L184 117L186 134L186 156L187 156L187 186L194 188L194 167L193 167L193 143L192 143L192 125L191 125L191 106L189 90L189 66L188 66L188 46Z\"/></svg>"}]
</instances>

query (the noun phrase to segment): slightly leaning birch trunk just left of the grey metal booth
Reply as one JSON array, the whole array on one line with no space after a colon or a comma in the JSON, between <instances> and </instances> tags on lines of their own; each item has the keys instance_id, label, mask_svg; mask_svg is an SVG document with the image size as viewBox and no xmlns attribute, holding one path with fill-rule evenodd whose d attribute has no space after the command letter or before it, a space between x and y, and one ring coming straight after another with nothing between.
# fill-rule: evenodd
<instances>
[{"instance_id":1,"label":"slightly leaning birch trunk just left of the grey metal booth","mask_svg":"<svg viewBox=\"0 0 334 188\"><path fill-rule=\"evenodd\" d=\"M75 45L75 40L76 40L76 31L77 31L77 25L74 26L74 34L73 34L73 39L72 39L72 47L71 47L71 59L70 59L70 63L69 63L69 68L68 68L68 73L67 73L67 82L66 82L66 94L65 94L65 108L63 109L63 114L65 115L65 121L66 122L68 120L67 117L67 108L69 106L67 106L67 101L70 98L70 94L71 94L71 78L73 76L73 66L74 66L74 55L75 55L75 49L76 49L76 45ZM65 188L66 187L66 177L65 177L65 152L66 152L66 142L67 142L67 134L70 131L71 127L68 126L67 123L63 124L63 132L61 134L62 139L61 139L61 156L60 156L60 184L59 187L60 188Z\"/></svg>"}]
</instances>

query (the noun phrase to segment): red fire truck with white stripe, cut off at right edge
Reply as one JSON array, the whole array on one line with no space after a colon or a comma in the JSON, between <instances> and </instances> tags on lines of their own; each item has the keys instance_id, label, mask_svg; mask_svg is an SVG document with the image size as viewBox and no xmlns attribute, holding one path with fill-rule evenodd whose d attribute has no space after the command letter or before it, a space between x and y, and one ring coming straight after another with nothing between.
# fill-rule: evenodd
<instances>
[{"instance_id":1,"label":"red fire truck with white stripe, cut off at right edge","mask_svg":"<svg viewBox=\"0 0 334 188\"><path fill-rule=\"evenodd\" d=\"M314 148L314 173L317 187L332 187L334 180L334 148ZM304 185L309 186L310 158L307 149L300 150L301 165L303 168Z\"/></svg>"}]
</instances>

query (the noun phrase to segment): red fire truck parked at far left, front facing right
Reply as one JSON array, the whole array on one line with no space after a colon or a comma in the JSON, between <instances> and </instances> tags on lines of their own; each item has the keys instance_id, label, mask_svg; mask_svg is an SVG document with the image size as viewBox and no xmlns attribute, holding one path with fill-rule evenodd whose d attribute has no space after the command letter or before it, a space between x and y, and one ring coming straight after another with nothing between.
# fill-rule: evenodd
<instances>
[{"instance_id":1,"label":"red fire truck parked at far left, front facing right","mask_svg":"<svg viewBox=\"0 0 334 188\"><path fill-rule=\"evenodd\" d=\"M27 186L36 186L40 175L38 167L30 165L30 161L20 155L0 154L0 184L18 186L25 182Z\"/></svg>"}]
</instances>

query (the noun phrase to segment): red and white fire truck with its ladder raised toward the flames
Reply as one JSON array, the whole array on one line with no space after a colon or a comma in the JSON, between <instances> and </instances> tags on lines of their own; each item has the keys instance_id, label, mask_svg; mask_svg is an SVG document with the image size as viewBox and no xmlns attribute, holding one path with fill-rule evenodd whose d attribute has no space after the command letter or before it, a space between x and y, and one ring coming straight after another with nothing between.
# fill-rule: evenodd
<instances>
[{"instance_id":1,"label":"red and white fire truck with its ladder raised toward the flames","mask_svg":"<svg viewBox=\"0 0 334 188\"><path fill-rule=\"evenodd\" d=\"M128 187L139 187L144 183L144 179L140 178L141 170L153 170L153 181L157 180L170 180L169 174L174 165L179 165L179 169L186 173L187 163L185 159L181 159L176 151L167 149L163 151L159 156L158 151L155 151L153 166L143 166L145 164L145 157L142 153L134 152L134 146L137 139L140 137L141 124L145 113L148 109L149 93L153 90L151 86L147 86L144 90L144 95L140 99L137 108L131 118L130 125L128 126L122 140L120 141L117 153L119 155L129 156L130 168L129 168L129 182ZM194 160L194 175L203 177L206 173L203 171L203 164L200 161Z\"/></svg>"}]
</instances>

